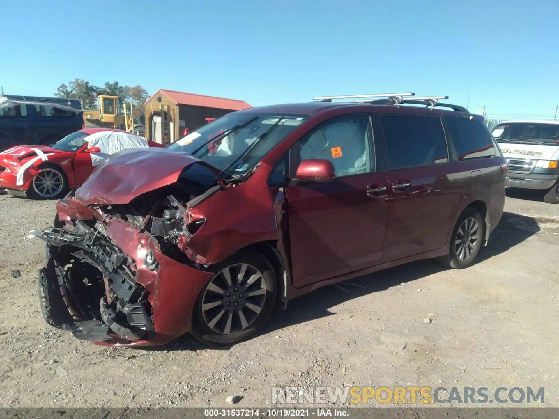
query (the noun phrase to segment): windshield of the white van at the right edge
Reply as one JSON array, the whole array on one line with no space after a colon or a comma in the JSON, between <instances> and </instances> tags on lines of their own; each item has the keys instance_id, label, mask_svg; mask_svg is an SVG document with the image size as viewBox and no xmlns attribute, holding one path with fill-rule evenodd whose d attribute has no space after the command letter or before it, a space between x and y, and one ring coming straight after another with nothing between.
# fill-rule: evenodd
<instances>
[{"instance_id":1,"label":"windshield of the white van at the right edge","mask_svg":"<svg viewBox=\"0 0 559 419\"><path fill-rule=\"evenodd\" d=\"M537 144L559 144L559 123L501 123L492 132L498 141Z\"/></svg>"}]
</instances>

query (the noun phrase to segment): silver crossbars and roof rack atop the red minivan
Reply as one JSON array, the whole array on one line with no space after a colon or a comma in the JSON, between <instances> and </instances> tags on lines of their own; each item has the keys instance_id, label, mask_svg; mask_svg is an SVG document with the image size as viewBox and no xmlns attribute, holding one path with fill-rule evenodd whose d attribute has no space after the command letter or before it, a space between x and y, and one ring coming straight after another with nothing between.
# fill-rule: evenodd
<instances>
[{"instance_id":1,"label":"silver crossbars and roof rack atop the red minivan","mask_svg":"<svg viewBox=\"0 0 559 419\"><path fill-rule=\"evenodd\" d=\"M366 99L364 99L366 98ZM371 99L371 98L384 98L384 99ZM370 103L370 104L419 104L432 107L451 108L456 112L470 113L465 107L451 104L441 103L439 99L448 99L448 96L415 96L415 93L376 93L376 94L349 94L344 96L317 96L314 100L321 102L331 102L332 99L356 99L357 103Z\"/></svg>"}]
</instances>

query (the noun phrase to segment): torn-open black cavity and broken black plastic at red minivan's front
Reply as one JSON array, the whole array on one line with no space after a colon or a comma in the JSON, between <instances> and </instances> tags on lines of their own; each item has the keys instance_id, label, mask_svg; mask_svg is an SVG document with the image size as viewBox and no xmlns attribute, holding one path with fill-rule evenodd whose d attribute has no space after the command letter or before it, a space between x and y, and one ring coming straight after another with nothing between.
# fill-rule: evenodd
<instances>
[{"instance_id":1,"label":"torn-open black cavity and broken black plastic at red minivan's front","mask_svg":"<svg viewBox=\"0 0 559 419\"><path fill-rule=\"evenodd\" d=\"M111 332L126 340L150 339L153 306L135 281L134 261L107 240L105 228L77 221L74 231L32 232L48 243L39 274L45 320L79 339L106 340Z\"/></svg>"}]
</instances>

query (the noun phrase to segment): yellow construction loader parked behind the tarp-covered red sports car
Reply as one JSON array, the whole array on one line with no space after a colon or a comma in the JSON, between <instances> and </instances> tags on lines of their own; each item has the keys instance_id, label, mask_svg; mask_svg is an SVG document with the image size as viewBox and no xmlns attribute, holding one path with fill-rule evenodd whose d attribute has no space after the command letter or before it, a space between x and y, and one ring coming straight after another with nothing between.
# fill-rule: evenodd
<instances>
[{"instance_id":1,"label":"yellow construction loader parked behind the tarp-covered red sports car","mask_svg":"<svg viewBox=\"0 0 559 419\"><path fill-rule=\"evenodd\" d=\"M83 111L84 126L86 128L115 128L145 137L145 126L140 122L141 113L136 111L137 113L134 115L132 103L122 103L122 112L119 112L119 109L118 96L100 94L97 96L96 109Z\"/></svg>"}]
</instances>

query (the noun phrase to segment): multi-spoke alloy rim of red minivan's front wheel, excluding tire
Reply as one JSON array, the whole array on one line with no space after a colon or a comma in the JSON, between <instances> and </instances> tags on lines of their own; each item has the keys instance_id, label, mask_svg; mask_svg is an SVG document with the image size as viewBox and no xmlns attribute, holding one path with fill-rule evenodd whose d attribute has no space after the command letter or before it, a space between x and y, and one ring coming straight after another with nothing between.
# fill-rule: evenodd
<instances>
[{"instance_id":1,"label":"multi-spoke alloy rim of red minivan's front wheel, excluding tire","mask_svg":"<svg viewBox=\"0 0 559 419\"><path fill-rule=\"evenodd\" d=\"M203 293L203 320L219 334L243 331L259 316L266 293L266 281L257 268L246 263L226 266Z\"/></svg>"}]
</instances>

